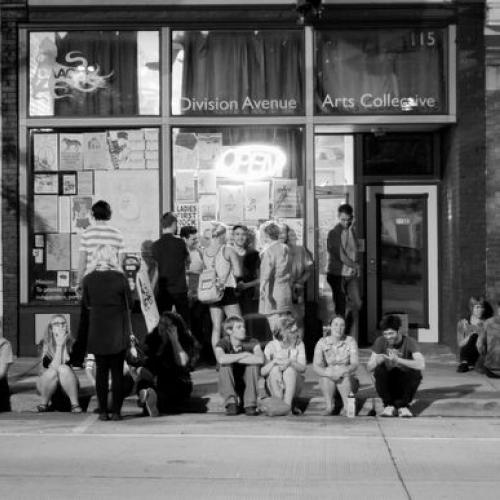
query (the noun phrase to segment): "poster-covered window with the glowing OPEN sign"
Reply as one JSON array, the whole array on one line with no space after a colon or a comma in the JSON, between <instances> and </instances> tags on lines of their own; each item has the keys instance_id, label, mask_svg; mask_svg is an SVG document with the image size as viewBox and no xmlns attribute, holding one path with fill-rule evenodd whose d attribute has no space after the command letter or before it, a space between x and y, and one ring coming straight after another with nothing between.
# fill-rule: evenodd
<instances>
[{"instance_id":1,"label":"poster-covered window with the glowing OPEN sign","mask_svg":"<svg viewBox=\"0 0 500 500\"><path fill-rule=\"evenodd\" d=\"M174 210L202 237L213 221L284 222L303 244L303 129L219 127L173 130Z\"/></svg>"}]
</instances>

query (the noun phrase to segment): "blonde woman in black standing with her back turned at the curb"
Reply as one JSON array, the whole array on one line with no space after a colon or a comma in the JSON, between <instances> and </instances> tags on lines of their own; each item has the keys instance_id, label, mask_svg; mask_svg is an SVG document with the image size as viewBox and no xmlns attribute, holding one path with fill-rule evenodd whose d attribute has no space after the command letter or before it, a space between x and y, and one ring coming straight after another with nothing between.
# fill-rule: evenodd
<instances>
[{"instance_id":1,"label":"blonde woman in black standing with her back turned at the curb","mask_svg":"<svg viewBox=\"0 0 500 500\"><path fill-rule=\"evenodd\" d=\"M130 287L118 266L116 250L97 247L93 270L83 279L83 304L89 309L88 351L96 359L96 392L100 420L109 420L108 378L111 372L111 420L121 420L123 363L129 342Z\"/></svg>"}]
</instances>

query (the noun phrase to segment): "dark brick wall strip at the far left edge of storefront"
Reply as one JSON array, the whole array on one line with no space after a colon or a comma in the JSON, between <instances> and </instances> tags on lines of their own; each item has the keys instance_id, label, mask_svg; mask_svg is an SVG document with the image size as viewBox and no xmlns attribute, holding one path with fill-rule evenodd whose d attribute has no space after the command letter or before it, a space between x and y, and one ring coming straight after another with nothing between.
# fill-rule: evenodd
<instances>
[{"instance_id":1,"label":"dark brick wall strip at the far left edge of storefront","mask_svg":"<svg viewBox=\"0 0 500 500\"><path fill-rule=\"evenodd\" d=\"M2 103L2 262L3 332L17 352L18 319L18 96L17 26L25 21L25 2L1 6Z\"/></svg>"}]
</instances>

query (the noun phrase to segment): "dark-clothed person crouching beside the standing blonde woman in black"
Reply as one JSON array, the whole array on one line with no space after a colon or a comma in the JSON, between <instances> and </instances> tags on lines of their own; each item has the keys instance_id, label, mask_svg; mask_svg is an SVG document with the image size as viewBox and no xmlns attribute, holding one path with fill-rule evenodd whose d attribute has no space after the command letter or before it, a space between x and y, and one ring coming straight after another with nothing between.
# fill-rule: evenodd
<instances>
[{"instance_id":1,"label":"dark-clothed person crouching beside the standing blonde woman in black","mask_svg":"<svg viewBox=\"0 0 500 500\"><path fill-rule=\"evenodd\" d=\"M165 311L144 341L144 366L137 369L138 405L157 417L179 407L193 390L194 338L180 314Z\"/></svg>"}]
</instances>

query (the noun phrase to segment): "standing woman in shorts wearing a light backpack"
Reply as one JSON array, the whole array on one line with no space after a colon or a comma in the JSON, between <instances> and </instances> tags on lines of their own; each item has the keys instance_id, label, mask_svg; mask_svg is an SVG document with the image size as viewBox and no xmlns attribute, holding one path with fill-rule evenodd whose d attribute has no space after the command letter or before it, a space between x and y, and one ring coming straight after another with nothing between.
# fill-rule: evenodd
<instances>
[{"instance_id":1,"label":"standing woman in shorts wearing a light backpack","mask_svg":"<svg viewBox=\"0 0 500 500\"><path fill-rule=\"evenodd\" d=\"M218 302L210 304L212 319L212 349L220 340L224 316L241 316L236 296L236 278L241 276L241 263L236 250L226 245L227 229L224 224L217 223L212 229L212 239L203 250L205 269L215 269L217 281L224 294Z\"/></svg>"}]
</instances>

